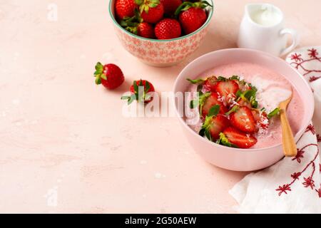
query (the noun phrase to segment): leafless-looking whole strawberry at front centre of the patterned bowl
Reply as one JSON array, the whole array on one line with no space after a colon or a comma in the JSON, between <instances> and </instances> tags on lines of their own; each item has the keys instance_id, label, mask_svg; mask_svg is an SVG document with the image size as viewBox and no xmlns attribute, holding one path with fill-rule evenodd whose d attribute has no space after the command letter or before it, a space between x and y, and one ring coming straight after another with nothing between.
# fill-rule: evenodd
<instances>
[{"instance_id":1,"label":"leafless-looking whole strawberry at front centre of the patterned bowl","mask_svg":"<svg viewBox=\"0 0 321 228\"><path fill-rule=\"evenodd\" d=\"M180 23L175 19L163 19L155 27L155 35L159 40L178 38L181 33Z\"/></svg>"}]
</instances>

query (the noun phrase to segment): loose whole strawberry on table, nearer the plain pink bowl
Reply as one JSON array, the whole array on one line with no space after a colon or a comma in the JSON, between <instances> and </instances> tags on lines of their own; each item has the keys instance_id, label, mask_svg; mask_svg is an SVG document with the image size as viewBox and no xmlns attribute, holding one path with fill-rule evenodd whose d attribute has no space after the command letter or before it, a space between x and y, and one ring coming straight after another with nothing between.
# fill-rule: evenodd
<instances>
[{"instance_id":1,"label":"loose whole strawberry on table, nearer the plain pink bowl","mask_svg":"<svg viewBox=\"0 0 321 228\"><path fill-rule=\"evenodd\" d=\"M128 100L128 105L137 100L140 103L150 103L153 98L151 93L155 92L155 88L152 83L146 80L134 81L131 86L131 95L124 95L122 100Z\"/></svg>"}]
</instances>

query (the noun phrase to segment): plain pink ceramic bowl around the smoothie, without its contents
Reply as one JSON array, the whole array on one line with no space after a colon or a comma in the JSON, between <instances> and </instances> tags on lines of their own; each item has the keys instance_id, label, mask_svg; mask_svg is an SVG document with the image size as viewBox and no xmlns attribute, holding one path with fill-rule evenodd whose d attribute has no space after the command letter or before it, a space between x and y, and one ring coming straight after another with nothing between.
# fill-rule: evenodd
<instances>
[{"instance_id":1,"label":"plain pink ceramic bowl around the smoothie, without its contents","mask_svg":"<svg viewBox=\"0 0 321 228\"><path fill-rule=\"evenodd\" d=\"M256 63L270 68L280 73L292 83L292 86L298 91L302 100L305 101L302 115L298 116L298 118L303 118L302 126L297 135L295 135L295 140L299 140L312 119L314 110L312 90L300 73L292 68L290 64L270 54L241 48L208 53L205 56L197 58L183 69L175 82L174 91L177 93L188 90L190 84L186 81L186 78L196 78L200 73L215 68L215 66L236 62ZM185 123L183 111L178 109L177 101L175 101L175 108L188 142L190 142L201 157L213 165L227 170L253 171L269 167L284 157L281 144L264 149L245 150L223 147L210 142L200 137Z\"/></svg>"}]
</instances>

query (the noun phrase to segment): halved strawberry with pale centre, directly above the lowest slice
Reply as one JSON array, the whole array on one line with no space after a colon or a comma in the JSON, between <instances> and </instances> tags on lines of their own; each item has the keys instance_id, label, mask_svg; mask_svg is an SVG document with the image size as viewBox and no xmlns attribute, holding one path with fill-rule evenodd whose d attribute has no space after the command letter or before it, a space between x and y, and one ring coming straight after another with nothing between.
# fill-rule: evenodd
<instances>
[{"instance_id":1,"label":"halved strawberry with pale centre, directly above the lowest slice","mask_svg":"<svg viewBox=\"0 0 321 228\"><path fill-rule=\"evenodd\" d=\"M241 106L230 114L230 123L244 133L255 133L255 119L250 108Z\"/></svg>"}]
</instances>

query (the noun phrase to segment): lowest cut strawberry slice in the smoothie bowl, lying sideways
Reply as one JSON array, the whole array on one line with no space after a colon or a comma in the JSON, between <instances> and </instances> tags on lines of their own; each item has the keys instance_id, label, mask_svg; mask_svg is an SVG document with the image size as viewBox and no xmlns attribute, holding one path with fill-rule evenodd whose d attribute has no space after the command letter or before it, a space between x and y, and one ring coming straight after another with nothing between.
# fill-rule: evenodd
<instances>
[{"instance_id":1,"label":"lowest cut strawberry slice in the smoothie bowl, lying sideways","mask_svg":"<svg viewBox=\"0 0 321 228\"><path fill-rule=\"evenodd\" d=\"M256 142L258 142L258 140L254 136L242 133L239 130L236 130L235 128L226 128L223 131L223 134L230 143L243 149L253 147L253 145L255 145Z\"/></svg>"}]
</instances>

